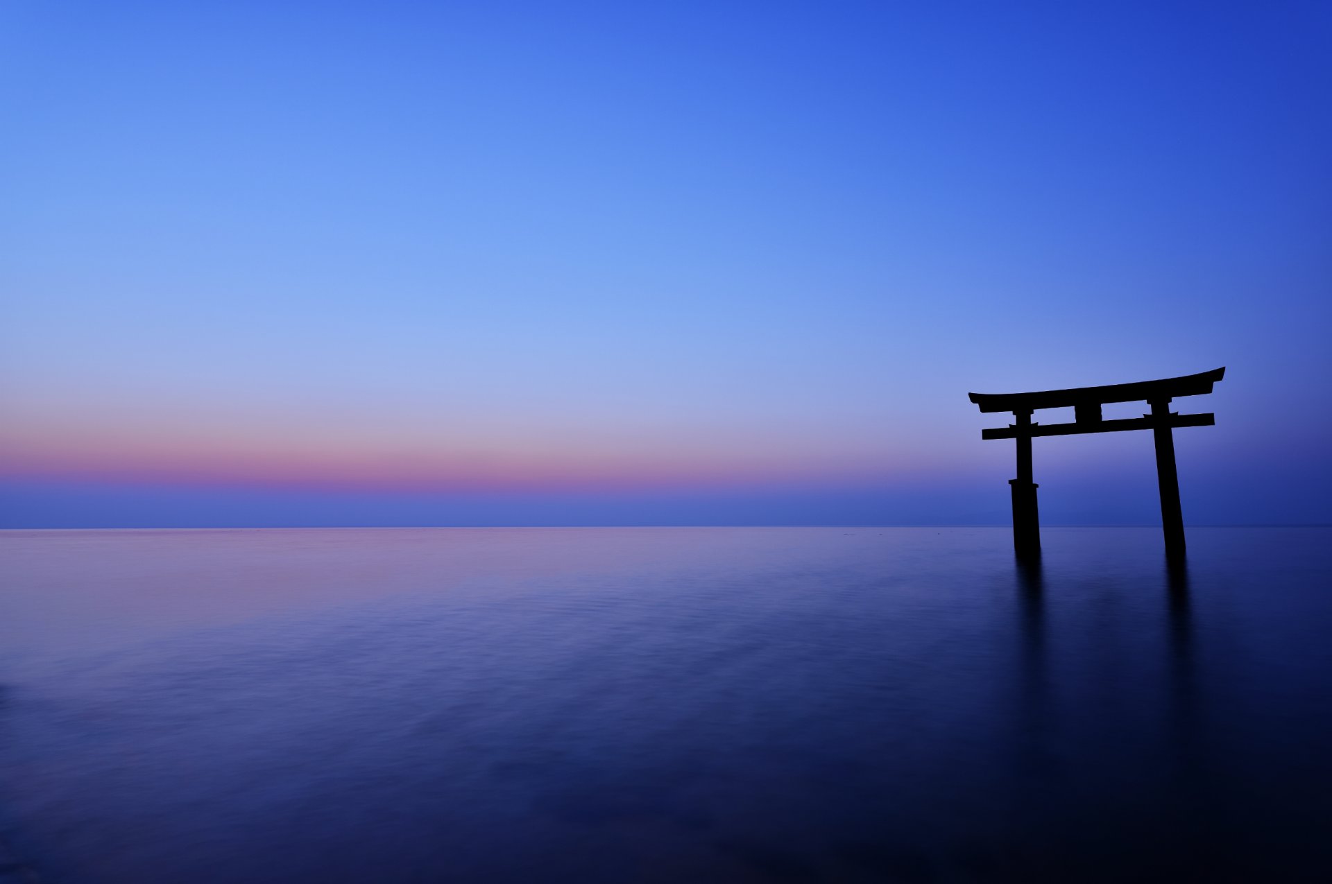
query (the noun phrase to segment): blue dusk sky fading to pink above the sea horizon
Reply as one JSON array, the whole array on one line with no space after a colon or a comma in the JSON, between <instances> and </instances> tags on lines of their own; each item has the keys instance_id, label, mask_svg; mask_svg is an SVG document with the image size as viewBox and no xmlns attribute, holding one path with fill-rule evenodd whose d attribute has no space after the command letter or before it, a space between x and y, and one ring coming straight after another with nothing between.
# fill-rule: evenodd
<instances>
[{"instance_id":1,"label":"blue dusk sky fading to pink above the sea horizon","mask_svg":"<svg viewBox=\"0 0 1332 884\"><path fill-rule=\"evenodd\" d=\"M0 72L3 527L1004 525L968 391L1223 365L1185 522L1332 523L1327 3L12 0ZM1035 471L1159 522L1148 433Z\"/></svg>"}]
</instances>

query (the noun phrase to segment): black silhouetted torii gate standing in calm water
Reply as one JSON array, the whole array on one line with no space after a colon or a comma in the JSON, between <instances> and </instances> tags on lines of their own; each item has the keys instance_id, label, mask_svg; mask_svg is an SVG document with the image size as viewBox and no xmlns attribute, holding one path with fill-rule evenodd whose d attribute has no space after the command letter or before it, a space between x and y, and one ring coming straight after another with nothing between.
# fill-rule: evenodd
<instances>
[{"instance_id":1,"label":"black silhouetted torii gate standing in calm water","mask_svg":"<svg viewBox=\"0 0 1332 884\"><path fill-rule=\"evenodd\" d=\"M1156 481L1162 491L1162 527L1166 531L1166 552L1176 556L1184 552L1184 517L1179 507L1179 474L1175 471L1175 437L1177 426L1212 426L1215 414L1176 414L1169 401L1180 395L1200 395L1212 391L1225 367L1188 374L1181 378L1142 381L1139 383L1110 383L1071 390L1043 390L1040 393L968 393L971 401L984 411L1012 411L1016 423L1007 427L982 430L982 439L1018 441L1018 478L1012 486L1012 546L1018 555L1040 554L1040 517L1036 511L1036 483L1031 481L1031 439L1036 435L1070 435L1074 433L1114 433L1116 430L1151 430L1156 438ZM1139 402L1152 406L1151 414L1123 421L1103 421L1100 406L1106 402ZM1038 409L1072 406L1072 423L1042 426L1031 419Z\"/></svg>"}]
</instances>

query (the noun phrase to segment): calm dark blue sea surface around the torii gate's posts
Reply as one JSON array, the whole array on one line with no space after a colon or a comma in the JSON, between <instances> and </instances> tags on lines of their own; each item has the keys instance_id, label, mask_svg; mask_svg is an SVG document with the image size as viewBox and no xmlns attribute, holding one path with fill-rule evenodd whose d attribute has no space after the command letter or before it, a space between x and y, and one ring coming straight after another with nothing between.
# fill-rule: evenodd
<instances>
[{"instance_id":1,"label":"calm dark blue sea surface around the torii gate's posts","mask_svg":"<svg viewBox=\"0 0 1332 884\"><path fill-rule=\"evenodd\" d=\"M1332 880L1332 530L7 531L43 881Z\"/></svg>"}]
</instances>

